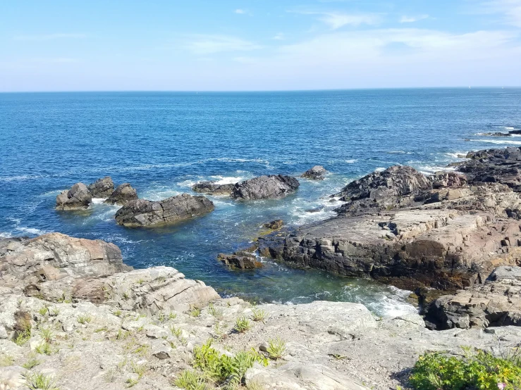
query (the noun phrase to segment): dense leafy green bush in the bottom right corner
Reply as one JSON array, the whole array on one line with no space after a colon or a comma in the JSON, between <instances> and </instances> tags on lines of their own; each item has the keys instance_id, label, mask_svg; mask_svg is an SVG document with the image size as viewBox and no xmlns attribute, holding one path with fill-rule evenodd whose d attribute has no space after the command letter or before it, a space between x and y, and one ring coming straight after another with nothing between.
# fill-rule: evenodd
<instances>
[{"instance_id":1,"label":"dense leafy green bush in the bottom right corner","mask_svg":"<svg viewBox=\"0 0 521 390\"><path fill-rule=\"evenodd\" d=\"M519 356L498 358L478 349L465 351L465 356L458 358L443 353L420 356L410 376L412 387L417 390L521 389Z\"/></svg>"}]
</instances>

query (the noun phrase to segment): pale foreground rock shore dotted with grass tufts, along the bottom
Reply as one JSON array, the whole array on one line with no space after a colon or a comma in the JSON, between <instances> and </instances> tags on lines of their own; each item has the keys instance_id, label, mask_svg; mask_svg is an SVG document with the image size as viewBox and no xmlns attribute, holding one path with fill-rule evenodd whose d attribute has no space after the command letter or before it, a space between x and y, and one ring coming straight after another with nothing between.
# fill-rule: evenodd
<instances>
[{"instance_id":1,"label":"pale foreground rock shore dotted with grass tufts, along the bottom","mask_svg":"<svg viewBox=\"0 0 521 390\"><path fill-rule=\"evenodd\" d=\"M252 306L173 268L133 270L114 244L57 233L0 240L0 272L1 389L37 376L49 389L178 389L209 340L227 356L265 356L241 374L247 389L406 389L425 351L521 337L515 326L429 330L419 315L379 318L358 303Z\"/></svg>"}]
</instances>

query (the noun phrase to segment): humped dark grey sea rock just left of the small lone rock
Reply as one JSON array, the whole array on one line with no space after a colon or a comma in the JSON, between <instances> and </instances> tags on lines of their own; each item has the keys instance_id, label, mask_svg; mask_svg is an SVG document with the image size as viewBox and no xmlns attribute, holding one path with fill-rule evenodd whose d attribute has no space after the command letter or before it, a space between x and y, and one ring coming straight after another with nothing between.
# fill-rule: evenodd
<instances>
[{"instance_id":1,"label":"humped dark grey sea rock just left of the small lone rock","mask_svg":"<svg viewBox=\"0 0 521 390\"><path fill-rule=\"evenodd\" d=\"M285 175L263 175L235 184L233 199L280 199L293 194L300 183L295 177Z\"/></svg>"}]
</instances>

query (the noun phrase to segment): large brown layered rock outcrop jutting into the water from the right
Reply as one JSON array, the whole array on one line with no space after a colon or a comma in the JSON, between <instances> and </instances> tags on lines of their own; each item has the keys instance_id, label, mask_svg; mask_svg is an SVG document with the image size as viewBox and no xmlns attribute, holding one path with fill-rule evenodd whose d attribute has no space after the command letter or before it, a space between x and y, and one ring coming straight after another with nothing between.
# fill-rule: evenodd
<instances>
[{"instance_id":1,"label":"large brown layered rock outcrop jutting into the water from the right","mask_svg":"<svg viewBox=\"0 0 521 390\"><path fill-rule=\"evenodd\" d=\"M521 265L520 196L410 167L373 172L339 194L338 217L259 237L259 253L299 268L455 291Z\"/></svg>"}]
</instances>

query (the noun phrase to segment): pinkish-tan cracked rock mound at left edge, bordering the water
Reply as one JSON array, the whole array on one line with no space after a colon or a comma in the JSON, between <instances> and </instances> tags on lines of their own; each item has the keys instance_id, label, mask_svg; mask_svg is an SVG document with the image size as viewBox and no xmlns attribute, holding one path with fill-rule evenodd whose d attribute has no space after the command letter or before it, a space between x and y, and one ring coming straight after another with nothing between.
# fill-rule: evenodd
<instances>
[{"instance_id":1,"label":"pinkish-tan cracked rock mound at left edge, bordering the water","mask_svg":"<svg viewBox=\"0 0 521 390\"><path fill-rule=\"evenodd\" d=\"M24 288L66 276L102 276L130 269L123 264L119 248L102 240L61 233L0 240L0 285Z\"/></svg>"}]
</instances>

